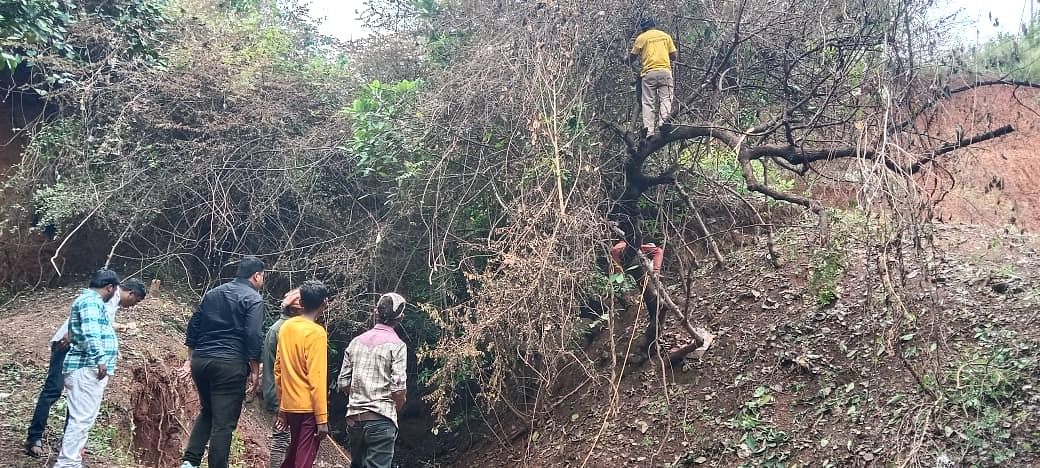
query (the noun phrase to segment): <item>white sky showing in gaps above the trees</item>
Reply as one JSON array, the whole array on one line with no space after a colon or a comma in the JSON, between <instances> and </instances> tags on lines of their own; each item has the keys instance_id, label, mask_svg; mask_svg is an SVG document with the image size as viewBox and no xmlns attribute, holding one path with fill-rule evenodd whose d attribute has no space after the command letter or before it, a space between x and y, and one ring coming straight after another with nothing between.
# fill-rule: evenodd
<instances>
[{"instance_id":1,"label":"white sky showing in gaps above the trees","mask_svg":"<svg viewBox=\"0 0 1040 468\"><path fill-rule=\"evenodd\" d=\"M936 4L937 14L959 12L962 23L959 35L962 41L973 44L993 38L999 32L1018 30L1022 19L1030 16L1031 2L1034 2L1036 10L1040 10L1040 0L938 0ZM364 0L310 0L310 6L313 18L323 18L319 29L324 34L341 40L361 38L368 34L358 20L358 10L365 7ZM993 26L990 15L999 22L999 27Z\"/></svg>"}]
</instances>

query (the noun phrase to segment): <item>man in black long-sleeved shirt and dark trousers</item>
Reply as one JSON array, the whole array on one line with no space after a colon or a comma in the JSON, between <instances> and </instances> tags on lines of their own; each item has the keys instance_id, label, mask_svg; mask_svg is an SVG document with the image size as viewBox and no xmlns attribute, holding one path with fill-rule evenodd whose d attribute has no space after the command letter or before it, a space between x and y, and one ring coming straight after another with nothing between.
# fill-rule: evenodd
<instances>
[{"instance_id":1,"label":"man in black long-sleeved shirt and dark trousers","mask_svg":"<svg viewBox=\"0 0 1040 468\"><path fill-rule=\"evenodd\" d=\"M199 467L207 442L210 468L228 466L246 384L255 388L259 375L265 311L257 290L263 287L263 268L260 259L242 258L236 279L206 292L188 321L188 359L181 374L191 374L202 411L181 468Z\"/></svg>"}]
</instances>

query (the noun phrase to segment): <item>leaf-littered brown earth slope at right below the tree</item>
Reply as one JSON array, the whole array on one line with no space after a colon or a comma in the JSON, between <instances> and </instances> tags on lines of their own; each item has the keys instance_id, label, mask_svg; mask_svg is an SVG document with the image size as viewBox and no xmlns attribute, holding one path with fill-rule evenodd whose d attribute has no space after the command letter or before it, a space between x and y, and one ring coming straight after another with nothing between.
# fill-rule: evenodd
<instances>
[{"instance_id":1,"label":"leaf-littered brown earth slope at right below the tree","mask_svg":"<svg viewBox=\"0 0 1040 468\"><path fill-rule=\"evenodd\" d=\"M730 254L729 269L695 275L691 305L719 334L702 361L613 380L604 333L587 347L599 361L588 382L546 400L575 393L454 466L1036 466L1040 237L939 225L932 238L890 258L905 311L855 240L827 305L822 253L805 242L781 236L778 269L760 248ZM642 315L614 317L619 347Z\"/></svg>"}]
</instances>

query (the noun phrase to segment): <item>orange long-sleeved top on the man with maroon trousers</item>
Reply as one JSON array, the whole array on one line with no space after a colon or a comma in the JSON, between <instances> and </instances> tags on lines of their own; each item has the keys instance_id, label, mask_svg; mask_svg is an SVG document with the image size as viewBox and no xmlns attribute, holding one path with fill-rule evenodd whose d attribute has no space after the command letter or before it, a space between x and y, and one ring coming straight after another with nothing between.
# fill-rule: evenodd
<instances>
[{"instance_id":1,"label":"orange long-sleeved top on the man with maroon trousers","mask_svg":"<svg viewBox=\"0 0 1040 468\"><path fill-rule=\"evenodd\" d=\"M275 386L280 410L314 413L318 424L329 422L329 335L321 326L302 316L282 323Z\"/></svg>"}]
</instances>

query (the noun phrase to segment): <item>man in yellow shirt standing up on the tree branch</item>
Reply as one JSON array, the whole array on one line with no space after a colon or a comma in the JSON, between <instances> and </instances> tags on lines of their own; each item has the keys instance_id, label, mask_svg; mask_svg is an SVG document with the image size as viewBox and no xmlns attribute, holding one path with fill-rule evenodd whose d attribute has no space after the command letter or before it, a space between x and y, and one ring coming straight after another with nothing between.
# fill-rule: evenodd
<instances>
[{"instance_id":1,"label":"man in yellow shirt standing up on the tree branch","mask_svg":"<svg viewBox=\"0 0 1040 468\"><path fill-rule=\"evenodd\" d=\"M640 93L643 95L643 128L649 138L656 133L658 124L665 132L671 129L671 124L666 121L672 114L674 99L672 60L678 58L679 51L675 48L672 36L657 29L657 23L653 19L643 20L640 30L643 32L635 37L628 57L629 61L640 60L643 63L643 69L640 70ZM656 108L657 103L660 111Z\"/></svg>"}]
</instances>

